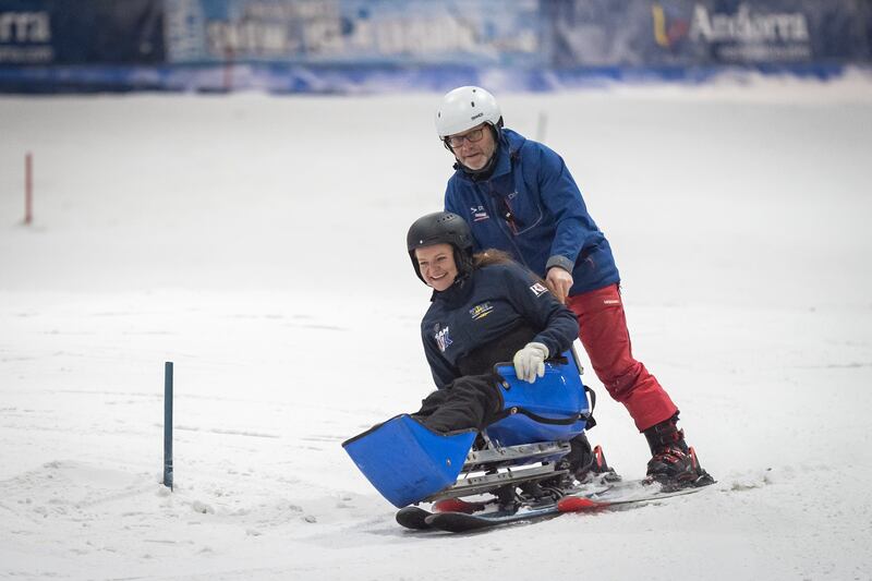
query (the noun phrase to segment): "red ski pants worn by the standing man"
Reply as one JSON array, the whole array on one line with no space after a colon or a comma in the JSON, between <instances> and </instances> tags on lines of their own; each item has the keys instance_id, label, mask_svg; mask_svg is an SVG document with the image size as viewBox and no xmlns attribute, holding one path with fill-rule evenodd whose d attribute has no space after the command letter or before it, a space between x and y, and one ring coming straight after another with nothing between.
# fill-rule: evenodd
<instances>
[{"instance_id":1,"label":"red ski pants worn by the standing man","mask_svg":"<svg viewBox=\"0 0 872 581\"><path fill-rule=\"evenodd\" d=\"M657 379L633 359L617 285L569 296L567 306L579 317L579 338L593 371L640 432L678 412Z\"/></svg>"}]
</instances>

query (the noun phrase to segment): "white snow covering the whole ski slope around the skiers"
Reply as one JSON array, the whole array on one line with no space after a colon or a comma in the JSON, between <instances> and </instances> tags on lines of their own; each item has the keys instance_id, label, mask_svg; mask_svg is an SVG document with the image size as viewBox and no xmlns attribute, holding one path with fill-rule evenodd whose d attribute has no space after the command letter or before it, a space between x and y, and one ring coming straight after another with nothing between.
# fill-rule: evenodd
<instances>
[{"instance_id":1,"label":"white snow covering the whole ski slope around the skiers","mask_svg":"<svg viewBox=\"0 0 872 581\"><path fill-rule=\"evenodd\" d=\"M403 240L450 170L438 95L7 96L0 578L872 578L872 81L499 97L579 181L717 484L479 535L393 523L340 444L432 386ZM592 440L640 477L585 378Z\"/></svg>"}]
</instances>

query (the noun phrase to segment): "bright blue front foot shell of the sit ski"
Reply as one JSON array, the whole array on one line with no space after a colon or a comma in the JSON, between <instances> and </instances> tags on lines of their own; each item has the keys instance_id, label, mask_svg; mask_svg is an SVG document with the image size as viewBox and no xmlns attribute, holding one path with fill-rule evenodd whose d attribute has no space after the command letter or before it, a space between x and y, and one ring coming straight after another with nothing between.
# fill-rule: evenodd
<instances>
[{"instance_id":1,"label":"bright blue front foot shell of the sit ski","mask_svg":"<svg viewBox=\"0 0 872 581\"><path fill-rule=\"evenodd\" d=\"M397 415L342 444L361 472L397 508L457 481L476 431L439 434Z\"/></svg>"}]
</instances>

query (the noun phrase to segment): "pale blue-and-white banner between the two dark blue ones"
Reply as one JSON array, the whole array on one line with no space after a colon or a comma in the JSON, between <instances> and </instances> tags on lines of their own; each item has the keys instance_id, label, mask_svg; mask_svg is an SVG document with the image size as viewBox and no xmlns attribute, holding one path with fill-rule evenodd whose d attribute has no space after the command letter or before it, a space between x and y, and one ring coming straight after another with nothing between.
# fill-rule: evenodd
<instances>
[{"instance_id":1,"label":"pale blue-and-white banner between the two dark blue ones","mask_svg":"<svg viewBox=\"0 0 872 581\"><path fill-rule=\"evenodd\" d=\"M545 64L538 0L166 0L170 62Z\"/></svg>"}]
</instances>

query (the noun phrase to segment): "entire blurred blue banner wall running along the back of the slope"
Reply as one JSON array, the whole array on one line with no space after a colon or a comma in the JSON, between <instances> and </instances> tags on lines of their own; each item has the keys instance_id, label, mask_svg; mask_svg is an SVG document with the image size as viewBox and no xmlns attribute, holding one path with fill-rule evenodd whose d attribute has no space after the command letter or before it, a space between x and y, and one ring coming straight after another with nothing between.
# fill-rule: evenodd
<instances>
[{"instance_id":1,"label":"entire blurred blue banner wall running along the back of the slope","mask_svg":"<svg viewBox=\"0 0 872 581\"><path fill-rule=\"evenodd\" d=\"M869 0L0 0L0 90L550 90L872 64Z\"/></svg>"}]
</instances>

